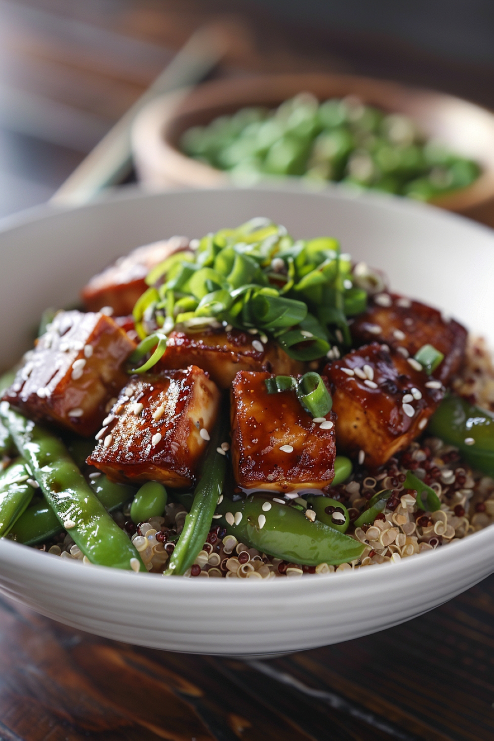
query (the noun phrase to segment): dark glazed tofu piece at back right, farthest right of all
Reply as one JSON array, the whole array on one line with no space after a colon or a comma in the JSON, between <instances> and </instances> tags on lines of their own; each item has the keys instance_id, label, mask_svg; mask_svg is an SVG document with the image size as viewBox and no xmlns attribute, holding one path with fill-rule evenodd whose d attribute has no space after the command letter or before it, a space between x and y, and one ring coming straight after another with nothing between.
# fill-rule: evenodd
<instances>
[{"instance_id":1,"label":"dark glazed tofu piece at back right, farthest right of all","mask_svg":"<svg viewBox=\"0 0 494 741\"><path fill-rule=\"evenodd\" d=\"M441 312L396 293L378 293L369 308L350 326L358 344L385 342L405 356L414 356L422 345L433 345L444 360L434 376L443 383L458 373L464 359L467 330Z\"/></svg>"}]
</instances>

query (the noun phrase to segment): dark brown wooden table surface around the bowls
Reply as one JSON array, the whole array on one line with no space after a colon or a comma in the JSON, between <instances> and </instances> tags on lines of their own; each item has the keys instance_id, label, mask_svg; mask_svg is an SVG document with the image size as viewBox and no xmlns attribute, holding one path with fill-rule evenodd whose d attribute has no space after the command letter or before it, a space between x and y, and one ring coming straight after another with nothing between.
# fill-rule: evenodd
<instances>
[{"instance_id":1,"label":"dark brown wooden table surface around the bowls","mask_svg":"<svg viewBox=\"0 0 494 741\"><path fill-rule=\"evenodd\" d=\"M353 71L494 107L487 70L240 0L0 0L0 216L47 199L216 16L237 36L219 76ZM383 633L264 662L136 648L0 602L5 741L487 741L493 704L494 576Z\"/></svg>"}]
</instances>

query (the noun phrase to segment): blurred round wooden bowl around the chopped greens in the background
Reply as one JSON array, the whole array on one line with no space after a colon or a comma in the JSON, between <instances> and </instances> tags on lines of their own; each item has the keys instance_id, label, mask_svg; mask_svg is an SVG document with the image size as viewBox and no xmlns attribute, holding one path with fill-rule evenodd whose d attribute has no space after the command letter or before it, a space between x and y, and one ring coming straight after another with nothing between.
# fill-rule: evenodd
<instances>
[{"instance_id":1,"label":"blurred round wooden bowl around the chopped greens in the background","mask_svg":"<svg viewBox=\"0 0 494 741\"><path fill-rule=\"evenodd\" d=\"M364 103L417 122L427 137L444 142L455 153L482 167L467 188L435 199L435 205L494 225L494 115L443 93L404 87L393 82L351 75L288 74L227 79L201 84L157 99L138 116L133 152L138 175L150 187L213 187L228 182L227 173L187 157L178 149L181 134L216 116L248 105L277 107L297 93L321 101L350 94Z\"/></svg>"}]
</instances>

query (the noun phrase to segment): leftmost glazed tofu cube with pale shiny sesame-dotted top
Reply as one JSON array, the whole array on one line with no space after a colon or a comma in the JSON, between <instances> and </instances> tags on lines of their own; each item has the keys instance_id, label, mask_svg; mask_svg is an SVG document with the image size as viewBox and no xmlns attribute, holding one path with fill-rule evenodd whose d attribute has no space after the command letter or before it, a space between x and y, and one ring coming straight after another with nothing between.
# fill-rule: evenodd
<instances>
[{"instance_id":1,"label":"leftmost glazed tofu cube with pale shiny sesame-dotted top","mask_svg":"<svg viewBox=\"0 0 494 741\"><path fill-rule=\"evenodd\" d=\"M93 435L127 383L122 365L135 348L110 316L61 311L3 398L32 419Z\"/></svg>"}]
</instances>

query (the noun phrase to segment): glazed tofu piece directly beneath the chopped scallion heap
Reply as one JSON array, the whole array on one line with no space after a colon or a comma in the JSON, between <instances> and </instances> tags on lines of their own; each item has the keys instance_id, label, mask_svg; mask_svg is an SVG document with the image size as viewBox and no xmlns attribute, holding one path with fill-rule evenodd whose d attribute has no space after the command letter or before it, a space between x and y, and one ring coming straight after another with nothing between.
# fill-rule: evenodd
<instances>
[{"instance_id":1,"label":"glazed tofu piece directly beneath the chopped scallion heap","mask_svg":"<svg viewBox=\"0 0 494 741\"><path fill-rule=\"evenodd\" d=\"M170 333L161 367L185 368L191 363L207 371L221 388L230 388L238 371L288 376L304 371L304 363L290 358L276 342L263 344L258 334L236 329Z\"/></svg>"}]
</instances>

